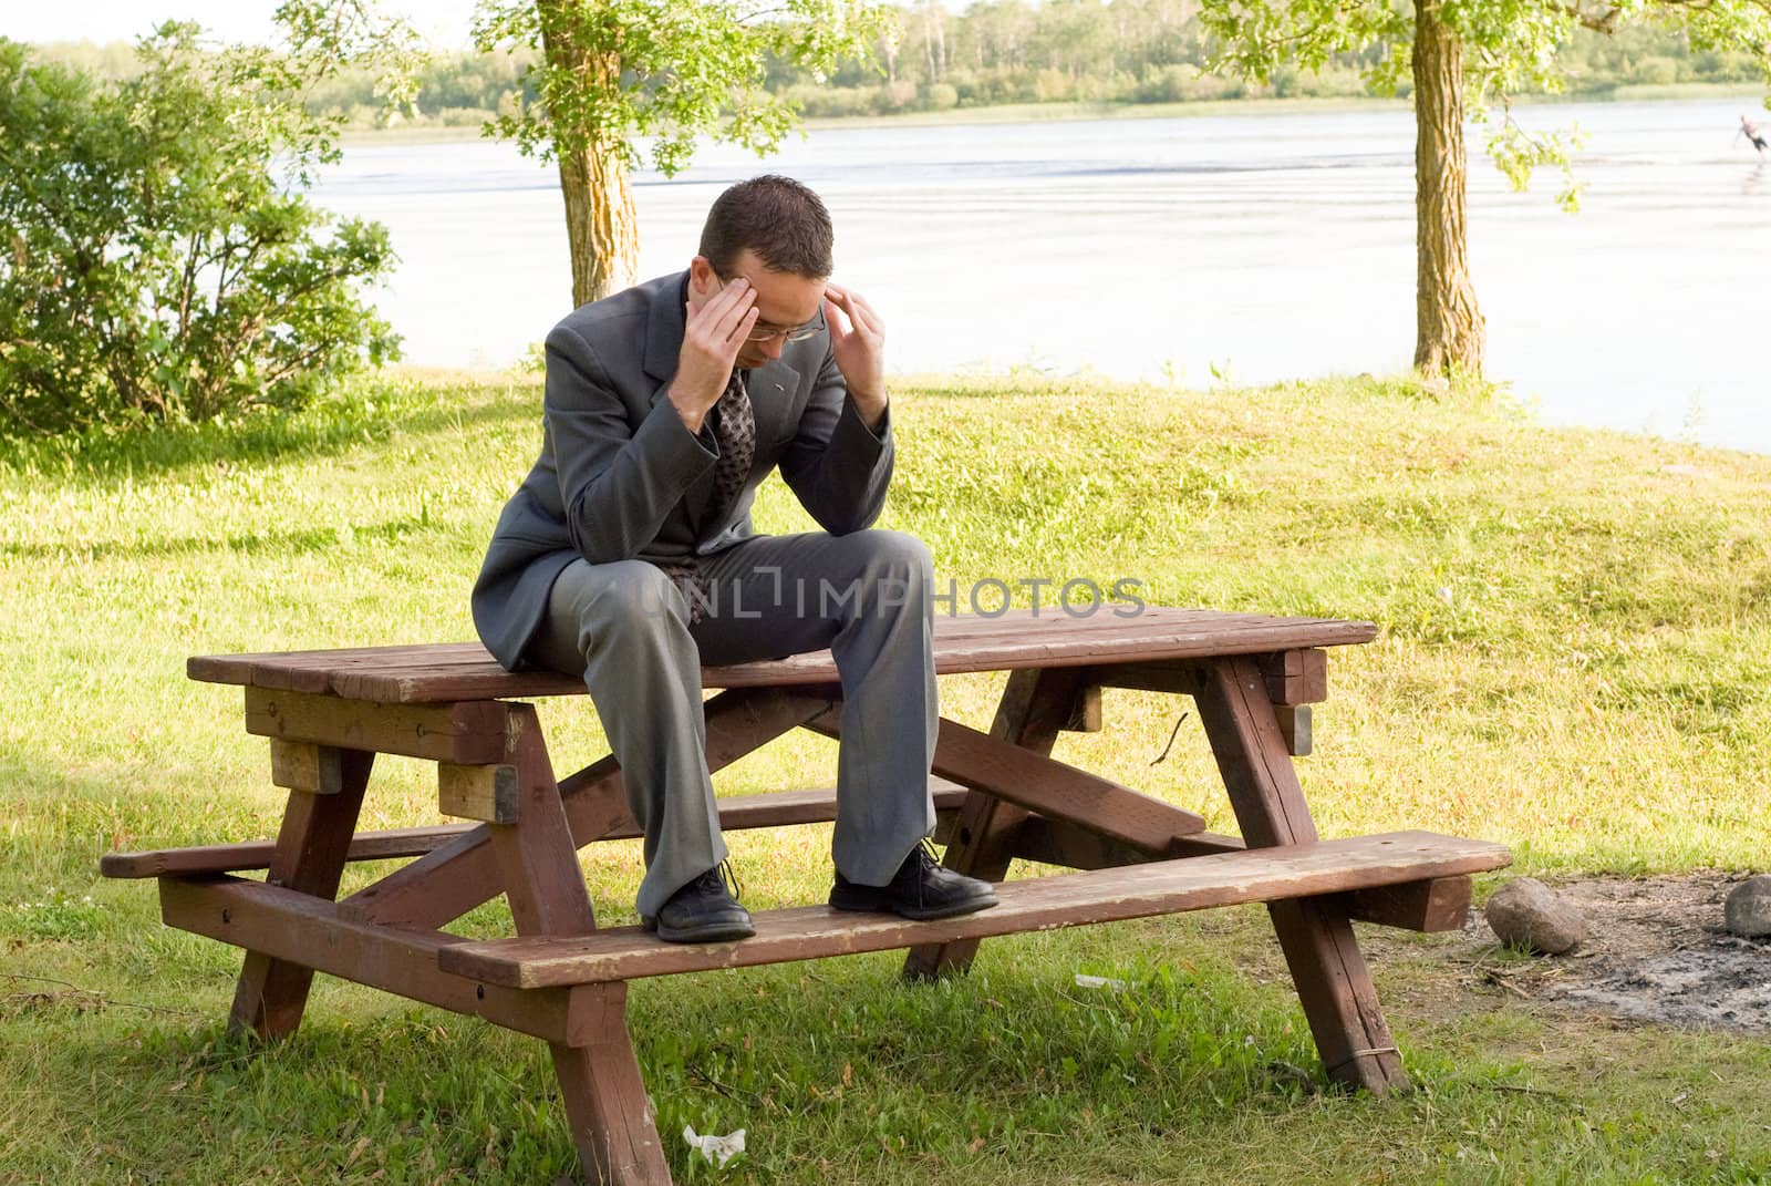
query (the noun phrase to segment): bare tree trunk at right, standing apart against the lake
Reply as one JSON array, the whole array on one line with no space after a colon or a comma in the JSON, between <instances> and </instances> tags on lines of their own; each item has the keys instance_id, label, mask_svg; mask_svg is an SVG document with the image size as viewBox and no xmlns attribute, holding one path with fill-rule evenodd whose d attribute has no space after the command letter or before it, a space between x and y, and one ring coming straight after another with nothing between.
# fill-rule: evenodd
<instances>
[{"instance_id":1,"label":"bare tree trunk at right, standing apart against the lake","mask_svg":"<svg viewBox=\"0 0 1771 1186\"><path fill-rule=\"evenodd\" d=\"M1463 43L1415 0L1415 367L1482 372L1482 310L1465 222Z\"/></svg>"}]
</instances>

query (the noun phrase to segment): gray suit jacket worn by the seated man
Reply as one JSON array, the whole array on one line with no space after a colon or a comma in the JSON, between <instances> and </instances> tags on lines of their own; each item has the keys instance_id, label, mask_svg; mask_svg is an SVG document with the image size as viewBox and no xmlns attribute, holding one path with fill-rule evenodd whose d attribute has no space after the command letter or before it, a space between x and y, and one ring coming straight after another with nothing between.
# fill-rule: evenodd
<instances>
[{"instance_id":1,"label":"gray suit jacket worn by the seated man","mask_svg":"<svg viewBox=\"0 0 1771 1186\"><path fill-rule=\"evenodd\" d=\"M737 503L707 521L719 445L666 397L682 347L687 273L574 310L547 335L542 456L505 505L473 587L473 624L515 670L572 560L669 560L754 532L751 502L776 464L831 534L878 518L891 482L889 415L875 434L847 397L829 333L749 372L756 459Z\"/></svg>"}]
</instances>

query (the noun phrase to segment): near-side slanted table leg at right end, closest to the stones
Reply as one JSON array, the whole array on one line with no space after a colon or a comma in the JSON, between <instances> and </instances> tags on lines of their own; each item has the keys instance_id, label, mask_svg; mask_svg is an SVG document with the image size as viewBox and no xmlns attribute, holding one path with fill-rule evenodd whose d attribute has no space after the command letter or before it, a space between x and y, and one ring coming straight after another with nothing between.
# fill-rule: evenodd
<instances>
[{"instance_id":1,"label":"near-side slanted table leg at right end, closest to the stones","mask_svg":"<svg viewBox=\"0 0 1771 1186\"><path fill-rule=\"evenodd\" d=\"M1245 656L1215 661L1197 706L1243 840L1250 847L1316 840L1257 663ZM1272 902L1268 911L1328 1078L1378 1094L1406 1087L1346 908L1305 899Z\"/></svg>"}]
</instances>

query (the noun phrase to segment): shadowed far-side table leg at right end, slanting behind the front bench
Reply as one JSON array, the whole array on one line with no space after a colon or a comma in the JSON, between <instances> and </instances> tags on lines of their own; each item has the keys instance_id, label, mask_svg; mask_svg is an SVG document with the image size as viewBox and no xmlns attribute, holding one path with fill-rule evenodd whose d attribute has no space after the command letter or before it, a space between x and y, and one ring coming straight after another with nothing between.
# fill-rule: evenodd
<instances>
[{"instance_id":1,"label":"shadowed far-side table leg at right end, slanting behind the front bench","mask_svg":"<svg viewBox=\"0 0 1771 1186\"><path fill-rule=\"evenodd\" d=\"M1077 700L1087 688L1086 675L1086 668L1075 667L1009 672L990 736L1034 753L1050 753L1059 730L1070 723ZM1015 860L1009 839L1025 817L1025 810L994 794L972 791L960 807L942 863L971 878L1001 881ZM926 980L967 971L978 956L978 943L979 940L956 940L912 947L903 963L903 975Z\"/></svg>"}]
</instances>

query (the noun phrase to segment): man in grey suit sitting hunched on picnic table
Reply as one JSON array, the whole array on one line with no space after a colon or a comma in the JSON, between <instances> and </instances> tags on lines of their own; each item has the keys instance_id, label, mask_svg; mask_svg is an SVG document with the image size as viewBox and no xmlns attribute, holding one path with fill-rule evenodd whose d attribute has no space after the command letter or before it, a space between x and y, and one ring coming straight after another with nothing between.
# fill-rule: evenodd
<instances>
[{"instance_id":1,"label":"man in grey suit sitting hunched on picnic table","mask_svg":"<svg viewBox=\"0 0 1771 1186\"><path fill-rule=\"evenodd\" d=\"M995 904L924 842L930 557L862 530L893 468L884 326L829 282L831 239L818 195L754 177L714 202L685 273L554 326L542 454L473 590L499 663L584 677L645 830L639 917L668 941L754 934L726 886L700 667L824 647L843 683L831 904L910 918ZM753 532L777 464L822 532Z\"/></svg>"}]
</instances>

